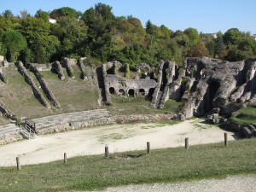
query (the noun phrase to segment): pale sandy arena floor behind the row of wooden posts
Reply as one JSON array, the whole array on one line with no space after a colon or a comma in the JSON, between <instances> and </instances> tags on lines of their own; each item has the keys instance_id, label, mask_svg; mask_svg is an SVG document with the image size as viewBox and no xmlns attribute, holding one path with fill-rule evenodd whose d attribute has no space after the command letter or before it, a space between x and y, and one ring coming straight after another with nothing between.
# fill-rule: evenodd
<instances>
[{"instance_id":1,"label":"pale sandy arena floor behind the row of wooden posts","mask_svg":"<svg viewBox=\"0 0 256 192\"><path fill-rule=\"evenodd\" d=\"M228 133L234 140L234 133ZM110 153L151 148L183 146L189 137L189 145L224 141L224 131L214 125L204 125L200 119L183 121L177 125L158 123L135 125L108 125L38 136L32 140L0 146L0 166L15 166L20 156L21 165L38 164L84 154L103 154L108 145Z\"/></svg>"}]
</instances>

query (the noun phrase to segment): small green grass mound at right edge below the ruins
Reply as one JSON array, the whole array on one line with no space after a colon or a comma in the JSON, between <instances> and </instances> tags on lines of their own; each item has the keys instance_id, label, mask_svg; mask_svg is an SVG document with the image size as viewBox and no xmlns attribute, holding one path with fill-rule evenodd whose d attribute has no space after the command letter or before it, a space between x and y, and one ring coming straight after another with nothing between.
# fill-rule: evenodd
<instances>
[{"instance_id":1,"label":"small green grass mound at right edge below the ruins","mask_svg":"<svg viewBox=\"0 0 256 192\"><path fill-rule=\"evenodd\" d=\"M247 108L241 108L237 112L233 113L230 118L233 123L238 125L248 125L256 122L256 107L249 106Z\"/></svg>"}]
</instances>

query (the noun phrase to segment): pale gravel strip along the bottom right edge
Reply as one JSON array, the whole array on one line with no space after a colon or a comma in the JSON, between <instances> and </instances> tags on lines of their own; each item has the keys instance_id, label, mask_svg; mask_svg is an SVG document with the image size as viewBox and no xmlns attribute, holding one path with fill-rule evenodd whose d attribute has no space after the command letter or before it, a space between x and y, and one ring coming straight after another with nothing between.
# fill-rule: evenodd
<instances>
[{"instance_id":1,"label":"pale gravel strip along the bottom right edge","mask_svg":"<svg viewBox=\"0 0 256 192\"><path fill-rule=\"evenodd\" d=\"M185 183L154 183L108 188L101 192L254 192L256 175L230 176Z\"/></svg>"}]
</instances>

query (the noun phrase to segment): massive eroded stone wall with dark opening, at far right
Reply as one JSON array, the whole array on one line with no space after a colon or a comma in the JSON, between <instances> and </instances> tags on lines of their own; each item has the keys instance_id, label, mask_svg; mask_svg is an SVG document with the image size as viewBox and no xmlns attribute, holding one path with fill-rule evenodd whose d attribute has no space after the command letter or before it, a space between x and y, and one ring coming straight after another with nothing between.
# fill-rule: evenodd
<instances>
[{"instance_id":1,"label":"massive eroded stone wall with dark opening, at far right","mask_svg":"<svg viewBox=\"0 0 256 192\"><path fill-rule=\"evenodd\" d=\"M213 108L230 115L255 96L256 59L229 62L202 57L187 58L184 63L186 75L198 81L183 108L187 118L201 116Z\"/></svg>"}]
</instances>

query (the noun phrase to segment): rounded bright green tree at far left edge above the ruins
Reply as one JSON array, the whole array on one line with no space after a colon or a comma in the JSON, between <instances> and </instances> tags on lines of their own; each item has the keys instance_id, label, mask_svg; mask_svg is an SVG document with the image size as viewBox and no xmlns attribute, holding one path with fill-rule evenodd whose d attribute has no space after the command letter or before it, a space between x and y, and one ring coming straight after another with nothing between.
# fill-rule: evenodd
<instances>
[{"instance_id":1,"label":"rounded bright green tree at far left edge above the ruins","mask_svg":"<svg viewBox=\"0 0 256 192\"><path fill-rule=\"evenodd\" d=\"M2 42L7 49L8 61L15 61L20 51L26 49L26 38L14 30L3 32Z\"/></svg>"}]
</instances>

